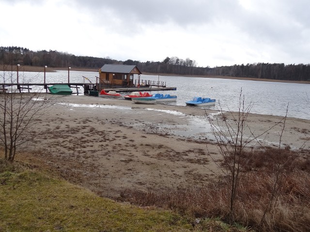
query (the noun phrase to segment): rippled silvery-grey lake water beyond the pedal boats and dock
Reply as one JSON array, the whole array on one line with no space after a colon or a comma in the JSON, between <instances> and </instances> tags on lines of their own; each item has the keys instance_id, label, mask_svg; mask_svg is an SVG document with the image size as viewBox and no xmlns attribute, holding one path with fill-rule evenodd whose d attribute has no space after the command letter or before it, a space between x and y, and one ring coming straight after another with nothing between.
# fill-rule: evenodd
<instances>
[{"instance_id":1,"label":"rippled silvery-grey lake water beyond the pedal boats and dock","mask_svg":"<svg viewBox=\"0 0 310 232\"><path fill-rule=\"evenodd\" d=\"M83 76L96 82L97 72L70 71L71 83L89 83ZM6 82L16 73L1 73L0 78ZM135 75L134 79L138 76ZM157 75L140 75L140 79L158 81ZM251 113L261 115L285 116L310 119L310 85L265 81L232 80L202 77L159 76L159 81L166 82L167 87L176 87L171 91L152 91L163 94L177 95L177 101L170 103L185 106L186 101L196 96L209 97L217 100L216 105L206 108L217 110L219 103L224 111L238 111L239 96L242 89L245 105L253 103ZM2 81L1 81L2 82ZM44 83L44 73L19 72L20 83ZM67 83L68 71L46 73L46 83ZM45 91L38 87L38 91ZM24 90L26 91L26 90ZM73 88L73 91L76 90ZM83 90L80 90L83 93ZM124 93L124 95L127 93Z\"/></svg>"}]
</instances>

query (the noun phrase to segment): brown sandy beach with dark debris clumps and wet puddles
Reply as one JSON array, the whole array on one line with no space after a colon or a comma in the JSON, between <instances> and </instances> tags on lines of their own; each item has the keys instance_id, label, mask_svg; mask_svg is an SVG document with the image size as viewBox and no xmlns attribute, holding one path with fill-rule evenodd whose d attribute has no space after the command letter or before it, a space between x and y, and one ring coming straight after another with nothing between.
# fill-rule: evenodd
<instances>
[{"instance_id":1,"label":"brown sandy beach with dark debris clumps and wet puddles","mask_svg":"<svg viewBox=\"0 0 310 232\"><path fill-rule=\"evenodd\" d=\"M125 188L202 185L217 172L209 155L220 156L207 119L211 116L221 124L217 111L74 95L47 94L46 101L50 111L32 129L42 134L20 157L101 196L118 197ZM231 124L233 116L226 113ZM259 135L280 120L279 116L250 114L250 130L244 136ZM259 142L279 146L282 128L283 122ZM310 149L309 140L310 120L286 119L282 145Z\"/></svg>"}]
</instances>

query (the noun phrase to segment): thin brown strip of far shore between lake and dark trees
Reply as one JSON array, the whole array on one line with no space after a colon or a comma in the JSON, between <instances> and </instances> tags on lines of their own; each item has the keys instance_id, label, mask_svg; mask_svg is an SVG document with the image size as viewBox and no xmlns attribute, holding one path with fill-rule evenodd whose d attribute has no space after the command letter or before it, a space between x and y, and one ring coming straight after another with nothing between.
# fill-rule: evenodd
<instances>
[{"instance_id":1,"label":"thin brown strip of far shore between lake and dark trees","mask_svg":"<svg viewBox=\"0 0 310 232\"><path fill-rule=\"evenodd\" d=\"M99 69L99 68L98 68ZM71 71L84 71L84 72L98 72L98 69L88 68L75 68L71 67ZM46 68L46 72L55 72L56 70L68 70L68 68ZM0 71L16 72L16 65L0 65ZM19 72L44 72L44 67L21 65ZM274 80L263 79L254 77L234 77L234 76L215 76L215 75L178 75L171 73L142 73L143 75L160 75L160 76L188 76L188 77L203 77L203 78L221 78L233 80L250 80L250 81L270 81L270 82L283 82L283 83L297 83L297 84L310 84L310 81L290 81L290 80Z\"/></svg>"}]
</instances>

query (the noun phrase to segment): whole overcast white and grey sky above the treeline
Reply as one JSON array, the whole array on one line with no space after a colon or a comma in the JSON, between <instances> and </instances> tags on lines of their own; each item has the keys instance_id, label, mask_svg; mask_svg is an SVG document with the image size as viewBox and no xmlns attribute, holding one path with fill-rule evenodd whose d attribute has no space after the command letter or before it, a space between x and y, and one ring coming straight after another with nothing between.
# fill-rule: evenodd
<instances>
[{"instance_id":1,"label":"whole overcast white and grey sky above the treeline","mask_svg":"<svg viewBox=\"0 0 310 232\"><path fill-rule=\"evenodd\" d=\"M310 63L309 0L0 0L0 46L201 67Z\"/></svg>"}]
</instances>

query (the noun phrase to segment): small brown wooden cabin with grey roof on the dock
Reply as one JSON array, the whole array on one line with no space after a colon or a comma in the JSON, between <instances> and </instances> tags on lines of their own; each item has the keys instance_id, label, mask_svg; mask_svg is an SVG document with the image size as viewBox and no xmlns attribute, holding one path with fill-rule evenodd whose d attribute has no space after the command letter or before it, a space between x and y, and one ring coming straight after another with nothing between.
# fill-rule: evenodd
<instances>
[{"instance_id":1,"label":"small brown wooden cabin with grey roof on the dock","mask_svg":"<svg viewBox=\"0 0 310 232\"><path fill-rule=\"evenodd\" d=\"M133 87L134 74L141 74L136 65L105 64L99 69L98 84L109 87Z\"/></svg>"}]
</instances>

